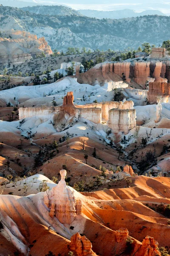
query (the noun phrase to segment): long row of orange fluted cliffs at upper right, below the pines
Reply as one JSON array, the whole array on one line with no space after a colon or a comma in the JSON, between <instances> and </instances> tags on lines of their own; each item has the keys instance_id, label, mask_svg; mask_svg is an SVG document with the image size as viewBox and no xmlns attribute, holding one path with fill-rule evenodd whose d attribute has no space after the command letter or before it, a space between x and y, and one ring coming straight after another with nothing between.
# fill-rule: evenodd
<instances>
[{"instance_id":1,"label":"long row of orange fluted cliffs at upper right, below the pines","mask_svg":"<svg viewBox=\"0 0 170 256\"><path fill-rule=\"evenodd\" d=\"M150 55L154 58L148 57L147 61L140 58L139 60L96 64L85 73L78 74L77 72L77 81L82 84L99 84L100 86L107 83L108 90L119 87L125 88L131 79L144 89L146 81L169 82L170 61L167 61L167 58L159 61L160 56L164 55L163 50L161 48L159 48L160 51L157 48L154 49L153 55Z\"/></svg>"}]
</instances>

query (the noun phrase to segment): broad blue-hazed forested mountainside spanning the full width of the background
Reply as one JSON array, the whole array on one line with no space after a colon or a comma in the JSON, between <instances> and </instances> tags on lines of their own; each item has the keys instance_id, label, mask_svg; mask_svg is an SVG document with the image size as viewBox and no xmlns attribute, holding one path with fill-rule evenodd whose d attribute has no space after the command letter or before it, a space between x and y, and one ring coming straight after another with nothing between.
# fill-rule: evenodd
<instances>
[{"instance_id":1,"label":"broad blue-hazed forested mountainside spanning the full width of the background","mask_svg":"<svg viewBox=\"0 0 170 256\"><path fill-rule=\"evenodd\" d=\"M49 10L49 6L45 8ZM59 51L65 51L68 47L92 50L137 49L144 42L158 46L170 39L169 27L168 16L96 19L78 15L50 15L49 12L47 15L36 14L0 6L1 30L26 30L38 38L45 37L51 48Z\"/></svg>"}]
</instances>

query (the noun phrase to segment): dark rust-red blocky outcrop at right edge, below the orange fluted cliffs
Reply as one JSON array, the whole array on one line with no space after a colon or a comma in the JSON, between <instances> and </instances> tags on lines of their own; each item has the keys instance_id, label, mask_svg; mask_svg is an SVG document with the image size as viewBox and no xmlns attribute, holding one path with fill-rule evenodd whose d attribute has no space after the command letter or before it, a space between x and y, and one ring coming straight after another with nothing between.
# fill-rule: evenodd
<instances>
[{"instance_id":1,"label":"dark rust-red blocky outcrop at right edge, below the orange fluted cliffs","mask_svg":"<svg viewBox=\"0 0 170 256\"><path fill-rule=\"evenodd\" d=\"M168 98L170 96L170 83L153 82L149 83L147 99L150 103L155 103L158 97ZM163 100L164 102L164 100Z\"/></svg>"}]
</instances>

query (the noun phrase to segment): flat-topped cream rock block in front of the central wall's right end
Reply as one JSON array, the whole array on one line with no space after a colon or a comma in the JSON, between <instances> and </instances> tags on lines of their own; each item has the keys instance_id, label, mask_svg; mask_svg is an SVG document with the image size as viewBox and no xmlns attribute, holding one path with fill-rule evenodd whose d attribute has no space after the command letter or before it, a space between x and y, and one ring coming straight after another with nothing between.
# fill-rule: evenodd
<instances>
[{"instance_id":1,"label":"flat-topped cream rock block in front of the central wall's right end","mask_svg":"<svg viewBox=\"0 0 170 256\"><path fill-rule=\"evenodd\" d=\"M109 111L108 127L114 133L122 131L124 134L128 134L130 129L136 127L136 110L111 109Z\"/></svg>"}]
</instances>

